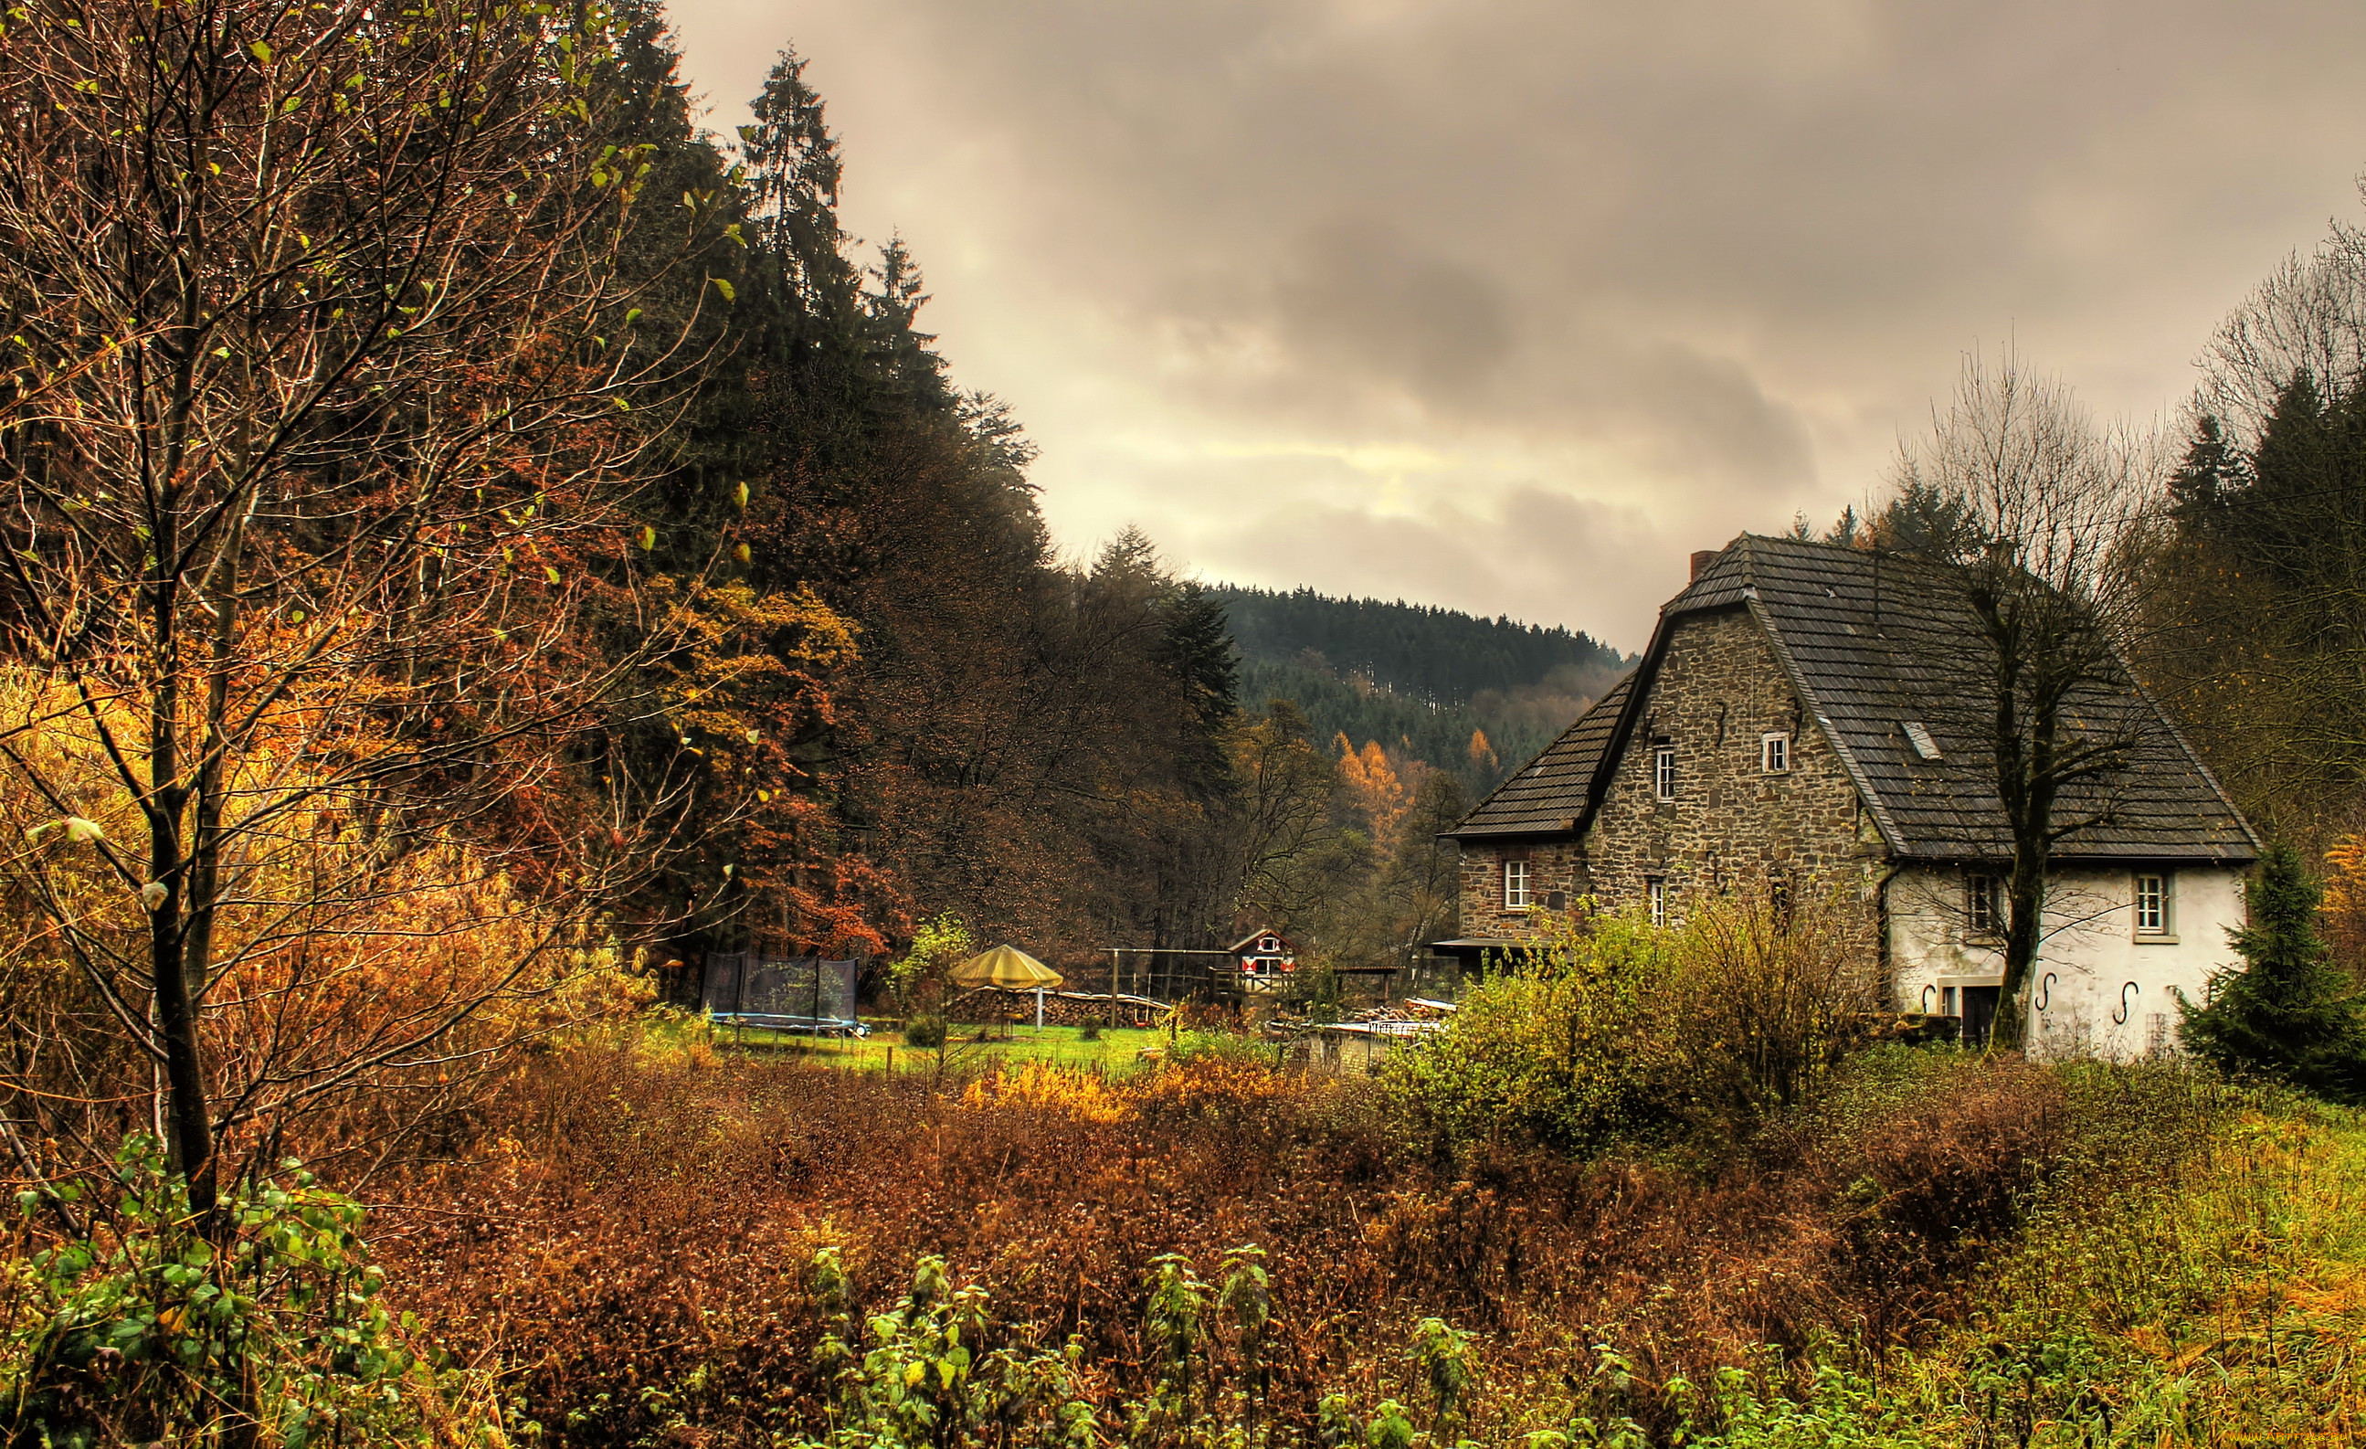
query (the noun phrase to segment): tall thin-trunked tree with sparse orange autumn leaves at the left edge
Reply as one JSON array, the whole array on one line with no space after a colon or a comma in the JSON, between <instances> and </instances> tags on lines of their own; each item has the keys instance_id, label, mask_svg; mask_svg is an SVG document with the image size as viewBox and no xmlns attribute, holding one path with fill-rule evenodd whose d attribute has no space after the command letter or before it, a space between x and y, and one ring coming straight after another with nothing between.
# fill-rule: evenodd
<instances>
[{"instance_id":1,"label":"tall thin-trunked tree with sparse orange autumn leaves at the left edge","mask_svg":"<svg viewBox=\"0 0 2366 1449\"><path fill-rule=\"evenodd\" d=\"M651 156L601 140L596 5L5 26L0 784L50 819L0 886L125 1056L83 1106L154 1110L206 1210L289 1113L464 1070L681 829L601 710L691 587L644 592L634 514L691 322L618 263ZM390 961L345 947L487 923L485 971L357 1016Z\"/></svg>"}]
</instances>

